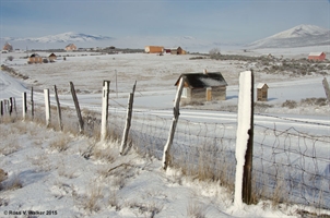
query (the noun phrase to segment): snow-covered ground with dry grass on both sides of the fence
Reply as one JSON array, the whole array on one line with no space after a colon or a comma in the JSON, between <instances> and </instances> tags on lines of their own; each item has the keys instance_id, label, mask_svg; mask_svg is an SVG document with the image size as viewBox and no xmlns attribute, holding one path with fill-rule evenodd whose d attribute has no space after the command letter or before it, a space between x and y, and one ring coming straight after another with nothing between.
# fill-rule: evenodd
<instances>
[{"instance_id":1,"label":"snow-covered ground with dry grass on both sides of the fence","mask_svg":"<svg viewBox=\"0 0 330 218\"><path fill-rule=\"evenodd\" d=\"M36 90L35 101L42 105L42 90L52 90L52 86L57 85L61 105L72 107L69 82L73 82L81 107L101 111L102 83L109 80L110 107L116 107L117 112L121 110L125 114L128 93L137 81L134 109L144 110L151 116L170 118L176 80L181 73L207 69L223 74L228 83L227 99L203 106L187 106L181 109L180 119L187 122L233 123L236 122L236 114L222 110L237 106L239 72L252 68L255 82L267 83L270 87L267 104L271 107L259 108L257 112L261 114L256 116L256 123L280 129L294 126L310 134L330 135L329 105L298 105L293 109L282 107L288 99L299 102L305 98L325 98L321 84L323 76L317 73L300 77L267 74L254 63L189 60L196 57L190 55L63 55L75 57L67 57L66 61L58 58L55 63L27 64L26 59L20 58L26 53L2 53L1 64L15 69L28 78L13 78L1 71L0 98L15 97L20 108L22 93L28 94L33 86ZM8 56L13 56L14 60L8 61ZM329 75L330 72L326 76L328 81ZM51 98L54 104L54 95ZM322 123L322 126L316 123ZM25 210L49 211L57 217L295 217L302 210L330 214L303 205L280 204L272 207L268 201L239 208L233 204L233 193L217 182L200 182L184 177L175 169L164 172L160 160L142 158L133 149L129 155L120 157L116 141L97 143L93 138L45 130L43 124L30 122L1 123L0 129L3 143L0 148L0 168L9 172L9 179L2 182L1 216L9 210L22 214ZM60 152L57 144L68 147ZM84 158L93 146L94 155ZM321 148L328 161L329 147L326 145ZM327 166L320 171L327 172ZM11 190L14 183L21 183L22 187Z\"/></svg>"}]
</instances>

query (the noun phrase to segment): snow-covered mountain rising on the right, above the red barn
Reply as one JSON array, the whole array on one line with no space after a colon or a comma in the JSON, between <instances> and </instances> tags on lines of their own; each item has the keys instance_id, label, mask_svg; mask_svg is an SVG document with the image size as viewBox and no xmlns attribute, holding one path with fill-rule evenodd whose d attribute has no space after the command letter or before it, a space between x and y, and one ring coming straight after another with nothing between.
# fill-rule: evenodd
<instances>
[{"instance_id":1,"label":"snow-covered mountain rising on the right, above the red barn","mask_svg":"<svg viewBox=\"0 0 330 218\"><path fill-rule=\"evenodd\" d=\"M330 31L315 25L298 25L247 45L250 48L293 48L330 45Z\"/></svg>"}]
</instances>

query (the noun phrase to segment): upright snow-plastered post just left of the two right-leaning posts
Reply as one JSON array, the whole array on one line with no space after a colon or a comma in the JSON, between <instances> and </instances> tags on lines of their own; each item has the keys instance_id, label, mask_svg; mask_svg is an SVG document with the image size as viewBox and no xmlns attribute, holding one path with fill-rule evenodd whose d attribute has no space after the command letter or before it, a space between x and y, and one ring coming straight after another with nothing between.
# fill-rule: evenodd
<instances>
[{"instance_id":1,"label":"upright snow-plastered post just left of the two right-leaning posts","mask_svg":"<svg viewBox=\"0 0 330 218\"><path fill-rule=\"evenodd\" d=\"M108 130L109 86L110 81L103 81L101 141L105 141Z\"/></svg>"}]
</instances>

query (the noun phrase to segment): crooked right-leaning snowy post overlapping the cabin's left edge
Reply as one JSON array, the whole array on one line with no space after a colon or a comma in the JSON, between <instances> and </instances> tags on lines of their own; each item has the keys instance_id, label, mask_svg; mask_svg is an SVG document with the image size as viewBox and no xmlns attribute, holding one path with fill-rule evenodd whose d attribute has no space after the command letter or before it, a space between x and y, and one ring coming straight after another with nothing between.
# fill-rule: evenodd
<instances>
[{"instance_id":1,"label":"crooked right-leaning snowy post overlapping the cabin's left edge","mask_svg":"<svg viewBox=\"0 0 330 218\"><path fill-rule=\"evenodd\" d=\"M169 160L170 160L170 147L173 144L173 138L174 138L174 134L175 134L175 129L179 119L179 107L180 107L180 99L181 99L181 94L182 94L182 89L184 89L184 85L185 85L185 76L181 76L180 80L180 84L178 86L177 93L176 93L176 97L175 97L175 101L174 101L174 109L173 109L173 113L174 113L174 118L172 121L172 125L168 132L168 138L166 142L166 145L164 147L164 153L163 153L163 169L166 170L168 165L169 165Z\"/></svg>"}]
</instances>

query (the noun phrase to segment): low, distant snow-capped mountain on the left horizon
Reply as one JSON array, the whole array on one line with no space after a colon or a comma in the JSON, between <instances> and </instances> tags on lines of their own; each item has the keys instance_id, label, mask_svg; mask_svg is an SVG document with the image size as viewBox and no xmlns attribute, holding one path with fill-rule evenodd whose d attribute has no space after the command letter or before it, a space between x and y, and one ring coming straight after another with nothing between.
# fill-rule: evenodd
<instances>
[{"instance_id":1,"label":"low, distant snow-capped mountain on the left horizon","mask_svg":"<svg viewBox=\"0 0 330 218\"><path fill-rule=\"evenodd\" d=\"M58 35L49 35L38 38L4 38L10 41L32 41L32 43L74 43L74 41L94 41L94 40L107 40L111 39L107 36L95 36L80 33L68 32Z\"/></svg>"}]
</instances>

